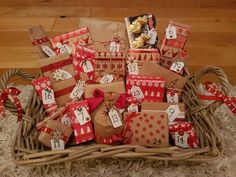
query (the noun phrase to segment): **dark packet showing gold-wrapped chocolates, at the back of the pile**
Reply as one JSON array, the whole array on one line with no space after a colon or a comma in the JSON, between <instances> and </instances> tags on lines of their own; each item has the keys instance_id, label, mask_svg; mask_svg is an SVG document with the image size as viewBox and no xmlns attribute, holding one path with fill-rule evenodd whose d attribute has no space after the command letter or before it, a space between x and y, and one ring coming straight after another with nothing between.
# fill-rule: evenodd
<instances>
[{"instance_id":1,"label":"dark packet showing gold-wrapped chocolates, at the back of the pile","mask_svg":"<svg viewBox=\"0 0 236 177\"><path fill-rule=\"evenodd\" d=\"M152 14L126 17L130 48L157 48L156 19Z\"/></svg>"}]
</instances>

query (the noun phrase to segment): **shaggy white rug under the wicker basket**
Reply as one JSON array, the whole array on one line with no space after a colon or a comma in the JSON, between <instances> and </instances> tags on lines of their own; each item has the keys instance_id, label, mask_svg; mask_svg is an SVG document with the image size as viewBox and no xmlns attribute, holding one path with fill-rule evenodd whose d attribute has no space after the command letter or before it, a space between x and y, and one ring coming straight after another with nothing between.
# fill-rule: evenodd
<instances>
[{"instance_id":1,"label":"shaggy white rug under the wicker basket","mask_svg":"<svg viewBox=\"0 0 236 177\"><path fill-rule=\"evenodd\" d=\"M30 86L21 86L21 100L26 103ZM202 87L199 87L203 92ZM231 95L236 96L236 87ZM113 160L98 159L73 163L69 174L64 166L52 166L46 174L32 168L17 167L11 161L11 144L16 130L16 117L8 113L7 119L0 120L0 177L235 177L236 176L236 116L222 105L216 111L217 124L225 141L226 152L222 159L212 163L173 163L143 159Z\"/></svg>"}]
</instances>

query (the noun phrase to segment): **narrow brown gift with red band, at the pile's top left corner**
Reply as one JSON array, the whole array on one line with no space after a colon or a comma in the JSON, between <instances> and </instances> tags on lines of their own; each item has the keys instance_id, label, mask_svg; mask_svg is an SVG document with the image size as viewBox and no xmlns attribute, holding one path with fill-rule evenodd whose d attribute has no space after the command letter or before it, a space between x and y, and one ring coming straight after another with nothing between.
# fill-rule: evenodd
<instances>
[{"instance_id":1,"label":"narrow brown gift with red band, at the pile's top left corner","mask_svg":"<svg viewBox=\"0 0 236 177\"><path fill-rule=\"evenodd\" d=\"M29 28L29 36L34 48L41 58L47 58L56 55L52 49L52 44L41 25L32 26Z\"/></svg>"}]
</instances>

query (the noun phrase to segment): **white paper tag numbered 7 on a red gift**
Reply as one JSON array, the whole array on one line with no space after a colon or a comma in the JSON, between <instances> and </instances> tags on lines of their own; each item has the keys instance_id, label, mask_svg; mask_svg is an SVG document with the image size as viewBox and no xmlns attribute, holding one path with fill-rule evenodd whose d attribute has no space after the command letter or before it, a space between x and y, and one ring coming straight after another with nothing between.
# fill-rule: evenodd
<instances>
[{"instance_id":1,"label":"white paper tag numbered 7 on a red gift","mask_svg":"<svg viewBox=\"0 0 236 177\"><path fill-rule=\"evenodd\" d=\"M74 110L74 114L76 122L78 122L80 125L84 125L91 121L91 117L85 107L80 107Z\"/></svg>"}]
</instances>

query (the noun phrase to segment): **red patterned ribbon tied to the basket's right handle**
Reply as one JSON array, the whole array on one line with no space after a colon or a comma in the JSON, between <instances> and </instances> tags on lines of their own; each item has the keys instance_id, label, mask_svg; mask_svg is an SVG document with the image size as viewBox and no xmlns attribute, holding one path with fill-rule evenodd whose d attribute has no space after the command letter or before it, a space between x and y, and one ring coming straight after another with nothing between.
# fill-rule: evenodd
<instances>
[{"instance_id":1,"label":"red patterned ribbon tied to the basket's right handle","mask_svg":"<svg viewBox=\"0 0 236 177\"><path fill-rule=\"evenodd\" d=\"M224 95L216 85L208 81L205 83L205 88L214 96L199 95L202 100L221 100L226 106L236 115L236 97L228 97Z\"/></svg>"}]
</instances>

